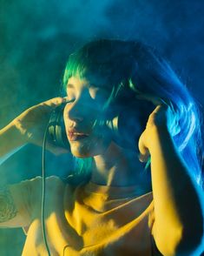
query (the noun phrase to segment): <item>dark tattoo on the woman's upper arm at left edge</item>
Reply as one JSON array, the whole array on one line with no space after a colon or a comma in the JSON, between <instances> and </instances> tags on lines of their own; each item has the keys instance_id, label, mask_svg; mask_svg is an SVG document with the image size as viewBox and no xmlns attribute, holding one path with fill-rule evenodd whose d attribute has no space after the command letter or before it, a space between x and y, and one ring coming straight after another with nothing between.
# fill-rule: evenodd
<instances>
[{"instance_id":1,"label":"dark tattoo on the woman's upper arm at left edge","mask_svg":"<svg viewBox=\"0 0 204 256\"><path fill-rule=\"evenodd\" d=\"M17 210L8 187L0 188L0 223L13 219Z\"/></svg>"}]
</instances>

